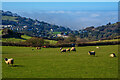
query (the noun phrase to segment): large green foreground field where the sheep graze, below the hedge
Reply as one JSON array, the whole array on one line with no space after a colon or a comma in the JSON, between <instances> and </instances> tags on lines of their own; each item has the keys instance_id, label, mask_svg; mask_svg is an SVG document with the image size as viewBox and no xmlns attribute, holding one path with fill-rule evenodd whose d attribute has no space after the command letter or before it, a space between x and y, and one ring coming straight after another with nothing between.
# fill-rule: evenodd
<instances>
[{"instance_id":1,"label":"large green foreground field where the sheep graze, below the hedge","mask_svg":"<svg viewBox=\"0 0 120 80\"><path fill-rule=\"evenodd\" d=\"M32 51L32 49L34 49ZM76 52L60 53L59 48L2 47L3 78L117 78L118 45L76 47ZM88 51L96 51L89 56ZM14 58L8 67L4 58Z\"/></svg>"}]
</instances>

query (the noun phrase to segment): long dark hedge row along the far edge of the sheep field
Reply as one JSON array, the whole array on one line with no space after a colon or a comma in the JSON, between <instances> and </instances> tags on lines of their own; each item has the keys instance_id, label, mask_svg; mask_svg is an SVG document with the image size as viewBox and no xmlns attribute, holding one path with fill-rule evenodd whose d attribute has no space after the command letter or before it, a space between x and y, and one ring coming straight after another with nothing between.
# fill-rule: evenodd
<instances>
[{"instance_id":1,"label":"long dark hedge row along the far edge of the sheep field","mask_svg":"<svg viewBox=\"0 0 120 80\"><path fill-rule=\"evenodd\" d=\"M78 44L76 44L76 46L99 46L99 45L117 45L117 44L120 44L120 41L98 42L98 43L78 43ZM24 46L24 47L30 47L32 45L23 44L23 43L2 42L2 46ZM33 46L33 47L36 47L36 46ZM54 47L72 47L72 44L47 45L47 47L53 47L53 48Z\"/></svg>"}]
</instances>

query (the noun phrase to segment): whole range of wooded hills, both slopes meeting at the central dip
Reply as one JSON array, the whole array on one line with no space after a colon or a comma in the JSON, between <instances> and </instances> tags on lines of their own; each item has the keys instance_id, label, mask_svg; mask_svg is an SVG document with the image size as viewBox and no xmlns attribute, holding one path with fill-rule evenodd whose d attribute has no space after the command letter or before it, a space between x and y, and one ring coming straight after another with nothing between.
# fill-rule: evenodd
<instances>
[{"instance_id":1,"label":"whole range of wooded hills, both slopes meeting at the central dip","mask_svg":"<svg viewBox=\"0 0 120 80\"><path fill-rule=\"evenodd\" d=\"M82 30L71 30L69 28L49 24L44 21L33 20L31 18L21 17L10 11L1 11L2 27L8 28L13 32L24 33L25 35L56 39L57 34L64 36L74 36L83 40L104 40L119 38L120 26L119 23L108 23L98 27L87 27ZM40 16L40 15L38 15Z\"/></svg>"}]
</instances>

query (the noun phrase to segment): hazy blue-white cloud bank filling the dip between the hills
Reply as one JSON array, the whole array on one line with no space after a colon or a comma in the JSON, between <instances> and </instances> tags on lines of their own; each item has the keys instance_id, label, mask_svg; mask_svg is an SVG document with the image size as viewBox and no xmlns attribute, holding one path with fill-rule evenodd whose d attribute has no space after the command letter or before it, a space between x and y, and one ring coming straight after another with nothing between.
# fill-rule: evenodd
<instances>
[{"instance_id":1,"label":"hazy blue-white cloud bank filling the dip between the hills","mask_svg":"<svg viewBox=\"0 0 120 80\"><path fill-rule=\"evenodd\" d=\"M31 17L51 24L57 24L71 29L81 29L88 26L100 26L108 22L117 22L116 11L37 11L21 13L22 16Z\"/></svg>"}]
</instances>

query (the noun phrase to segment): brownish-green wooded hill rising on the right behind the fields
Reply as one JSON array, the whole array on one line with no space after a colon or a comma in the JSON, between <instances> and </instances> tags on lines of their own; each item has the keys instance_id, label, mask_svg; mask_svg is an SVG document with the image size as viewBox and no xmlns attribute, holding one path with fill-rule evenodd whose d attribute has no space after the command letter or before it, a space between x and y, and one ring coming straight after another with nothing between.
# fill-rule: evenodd
<instances>
[{"instance_id":1,"label":"brownish-green wooded hill rising on the right behind the fields","mask_svg":"<svg viewBox=\"0 0 120 80\"><path fill-rule=\"evenodd\" d=\"M87 38L89 40L100 40L100 39L114 39L119 37L120 26L119 23L108 23L99 27L87 27L80 30L80 38Z\"/></svg>"}]
</instances>

